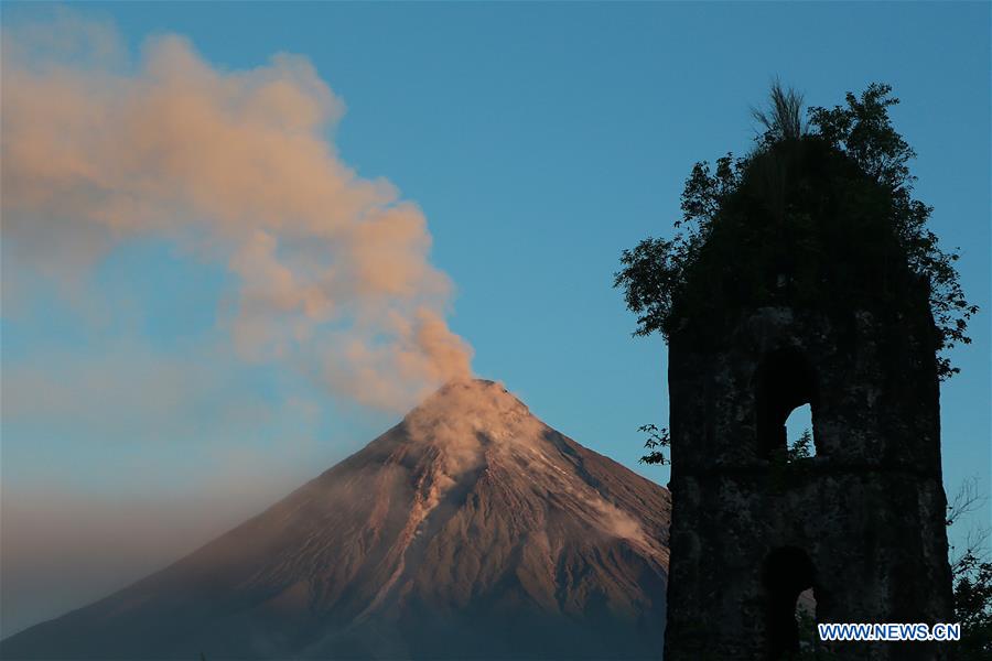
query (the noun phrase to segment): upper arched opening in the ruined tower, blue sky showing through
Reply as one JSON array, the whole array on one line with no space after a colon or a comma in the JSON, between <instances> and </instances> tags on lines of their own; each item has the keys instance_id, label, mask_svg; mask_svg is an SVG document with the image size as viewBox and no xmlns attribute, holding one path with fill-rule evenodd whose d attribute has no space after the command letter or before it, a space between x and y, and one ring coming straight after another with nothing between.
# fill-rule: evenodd
<instances>
[{"instance_id":1,"label":"upper arched opening in the ruined tower, blue sky showing through","mask_svg":"<svg viewBox=\"0 0 992 661\"><path fill-rule=\"evenodd\" d=\"M778 452L788 456L789 433L786 422L797 408L809 405L810 453L816 453L817 408L816 373L809 361L796 349L778 349L768 354L755 378L757 405L757 451L762 457ZM801 423L800 423L801 424ZM799 438L801 430L796 438Z\"/></svg>"}]
</instances>

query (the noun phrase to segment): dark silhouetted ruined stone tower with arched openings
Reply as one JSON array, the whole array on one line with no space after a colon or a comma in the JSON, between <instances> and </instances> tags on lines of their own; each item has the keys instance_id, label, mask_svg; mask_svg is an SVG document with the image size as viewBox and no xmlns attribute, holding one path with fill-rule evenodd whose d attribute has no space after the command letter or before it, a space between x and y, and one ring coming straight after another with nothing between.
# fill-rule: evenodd
<instances>
[{"instance_id":1,"label":"dark silhouetted ruined stone tower with arched openings","mask_svg":"<svg viewBox=\"0 0 992 661\"><path fill-rule=\"evenodd\" d=\"M666 661L790 658L809 588L818 622L953 621L928 285L876 193L831 147L779 144L688 274L669 336ZM790 459L784 425L802 404L815 455Z\"/></svg>"}]
</instances>

